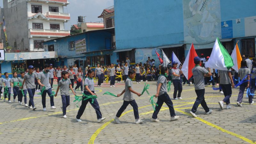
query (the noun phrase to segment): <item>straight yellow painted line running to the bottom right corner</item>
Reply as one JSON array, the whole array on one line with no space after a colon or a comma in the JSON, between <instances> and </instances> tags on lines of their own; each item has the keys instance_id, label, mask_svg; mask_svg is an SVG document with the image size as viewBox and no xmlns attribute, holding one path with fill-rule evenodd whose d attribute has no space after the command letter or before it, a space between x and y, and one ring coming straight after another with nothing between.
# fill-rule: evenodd
<instances>
[{"instance_id":1,"label":"straight yellow painted line running to the bottom right corner","mask_svg":"<svg viewBox=\"0 0 256 144\"><path fill-rule=\"evenodd\" d=\"M179 111L179 112L181 112L181 113L183 113L183 114L185 114L185 115L191 116L191 115L188 114L187 112L184 112L184 111L182 111L182 110L180 110L180 109L176 109L176 110ZM228 130L225 130L225 129L223 129L223 128L221 128L221 127L215 125L215 124L212 124L212 123L210 123L210 122L208 122L208 121L206 121L206 120L204 120L204 119L202 119L202 118L200 118L200 117L195 117L195 118L198 119L199 121L203 122L204 124L210 125L210 126L216 128L216 129L220 130L221 132L226 132L226 133L228 133L228 134L230 134L230 135L233 135L233 136L235 136L235 137L237 137L237 138L240 138L240 139L242 139L242 140L244 140L244 141L246 141L246 142L249 142L249 143L252 143L252 144L256 144L256 143L255 143L254 141L252 141L252 140L249 140L249 139L247 139L247 138L245 138L245 137L243 137L243 136L241 136L241 135L239 135L239 134L236 134L236 133L234 133L234 132L230 132L230 131L228 131Z\"/></svg>"}]
</instances>

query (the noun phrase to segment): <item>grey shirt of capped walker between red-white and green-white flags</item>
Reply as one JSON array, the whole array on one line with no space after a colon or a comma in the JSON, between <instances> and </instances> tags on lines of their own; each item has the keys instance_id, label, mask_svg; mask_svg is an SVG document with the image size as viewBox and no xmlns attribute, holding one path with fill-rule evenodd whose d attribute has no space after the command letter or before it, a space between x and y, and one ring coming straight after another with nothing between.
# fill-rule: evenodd
<instances>
[{"instance_id":1,"label":"grey shirt of capped walker between red-white and green-white flags","mask_svg":"<svg viewBox=\"0 0 256 144\"><path fill-rule=\"evenodd\" d=\"M208 70L200 66L196 66L192 69L195 82L195 90L204 89L204 74L208 73Z\"/></svg>"}]
</instances>

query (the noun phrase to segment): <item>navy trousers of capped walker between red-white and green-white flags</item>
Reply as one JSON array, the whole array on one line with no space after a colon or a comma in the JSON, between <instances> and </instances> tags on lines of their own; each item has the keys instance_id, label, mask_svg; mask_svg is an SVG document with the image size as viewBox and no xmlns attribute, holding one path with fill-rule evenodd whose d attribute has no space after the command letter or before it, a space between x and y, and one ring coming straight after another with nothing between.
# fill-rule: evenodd
<instances>
[{"instance_id":1,"label":"navy trousers of capped walker between red-white and green-white flags","mask_svg":"<svg viewBox=\"0 0 256 144\"><path fill-rule=\"evenodd\" d=\"M201 104L201 106L204 108L205 112L209 112L210 109L207 107L207 104L204 100L204 91L205 91L205 89L195 90L195 91L196 91L197 98L196 98L196 101L195 101L191 111L193 113L196 113L196 109Z\"/></svg>"}]
</instances>

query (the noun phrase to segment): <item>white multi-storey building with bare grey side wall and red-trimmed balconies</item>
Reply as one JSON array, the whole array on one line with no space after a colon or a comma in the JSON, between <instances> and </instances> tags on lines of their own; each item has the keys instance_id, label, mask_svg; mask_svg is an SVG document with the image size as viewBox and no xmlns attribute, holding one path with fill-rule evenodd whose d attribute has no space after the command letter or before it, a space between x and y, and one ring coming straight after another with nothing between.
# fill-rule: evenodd
<instances>
[{"instance_id":1,"label":"white multi-storey building with bare grey side wall and red-trimmed balconies","mask_svg":"<svg viewBox=\"0 0 256 144\"><path fill-rule=\"evenodd\" d=\"M9 45L16 50L44 51L43 41L70 35L64 23L67 0L4 0ZM54 51L50 47L48 51Z\"/></svg>"}]
</instances>

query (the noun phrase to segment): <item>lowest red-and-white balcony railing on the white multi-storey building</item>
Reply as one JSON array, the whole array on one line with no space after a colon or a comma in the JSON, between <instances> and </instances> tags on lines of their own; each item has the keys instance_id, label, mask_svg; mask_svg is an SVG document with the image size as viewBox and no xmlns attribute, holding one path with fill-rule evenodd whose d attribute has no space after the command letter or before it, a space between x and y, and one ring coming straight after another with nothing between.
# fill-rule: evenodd
<instances>
[{"instance_id":1,"label":"lowest red-and-white balcony railing on the white multi-storey building","mask_svg":"<svg viewBox=\"0 0 256 144\"><path fill-rule=\"evenodd\" d=\"M69 30L59 30L59 29L29 29L30 37L33 36L48 36L48 37L62 37L69 36Z\"/></svg>"}]
</instances>

